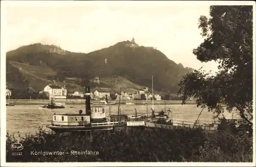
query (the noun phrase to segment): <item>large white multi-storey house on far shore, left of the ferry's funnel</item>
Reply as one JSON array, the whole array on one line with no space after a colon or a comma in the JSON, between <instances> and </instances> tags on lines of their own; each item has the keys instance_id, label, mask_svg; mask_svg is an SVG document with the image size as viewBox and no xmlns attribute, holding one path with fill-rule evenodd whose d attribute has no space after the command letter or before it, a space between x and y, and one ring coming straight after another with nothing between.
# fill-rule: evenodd
<instances>
[{"instance_id":1,"label":"large white multi-storey house on far shore, left of the ferry's funnel","mask_svg":"<svg viewBox=\"0 0 256 167\"><path fill-rule=\"evenodd\" d=\"M66 99L67 96L67 89L58 85L47 85L44 91L48 92L50 99Z\"/></svg>"}]
</instances>

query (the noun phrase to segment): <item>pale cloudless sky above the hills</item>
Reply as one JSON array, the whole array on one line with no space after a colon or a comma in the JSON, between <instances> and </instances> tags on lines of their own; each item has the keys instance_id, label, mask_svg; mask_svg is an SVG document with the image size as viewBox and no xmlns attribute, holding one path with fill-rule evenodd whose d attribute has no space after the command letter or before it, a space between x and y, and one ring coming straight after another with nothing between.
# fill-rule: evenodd
<instances>
[{"instance_id":1,"label":"pale cloudless sky above the hills","mask_svg":"<svg viewBox=\"0 0 256 167\"><path fill-rule=\"evenodd\" d=\"M89 53L120 41L153 46L185 67L215 73L215 62L201 63L192 53L203 41L200 15L209 4L168 2L12 3L5 8L6 51L43 43Z\"/></svg>"}]
</instances>

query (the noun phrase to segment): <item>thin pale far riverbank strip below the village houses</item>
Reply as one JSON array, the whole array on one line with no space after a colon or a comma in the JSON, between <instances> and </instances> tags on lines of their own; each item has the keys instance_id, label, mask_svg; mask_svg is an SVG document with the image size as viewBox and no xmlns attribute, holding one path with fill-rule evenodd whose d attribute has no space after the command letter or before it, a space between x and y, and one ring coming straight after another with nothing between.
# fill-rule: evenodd
<instances>
[{"instance_id":1,"label":"thin pale far riverbank strip below the village houses","mask_svg":"<svg viewBox=\"0 0 256 167\"><path fill-rule=\"evenodd\" d=\"M65 103L68 105L74 105L74 104L84 104L84 100L77 100L77 99L67 99L63 101L58 101L61 103ZM100 100L91 100L91 103L99 103ZM119 101L109 101L112 103L118 104ZM6 100L6 103L15 103L15 105L46 105L50 103L49 100L35 100L35 99L10 99ZM120 104L125 104L125 103L134 103L135 105L144 105L146 104L152 104L152 101L145 101L145 100L134 100L134 101L121 101ZM162 100L162 101L154 101L154 105L168 105L168 104L181 104L181 100ZM195 101L187 101L186 104L196 104Z\"/></svg>"}]
</instances>

